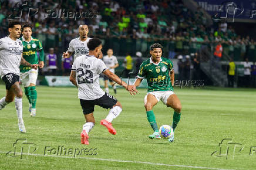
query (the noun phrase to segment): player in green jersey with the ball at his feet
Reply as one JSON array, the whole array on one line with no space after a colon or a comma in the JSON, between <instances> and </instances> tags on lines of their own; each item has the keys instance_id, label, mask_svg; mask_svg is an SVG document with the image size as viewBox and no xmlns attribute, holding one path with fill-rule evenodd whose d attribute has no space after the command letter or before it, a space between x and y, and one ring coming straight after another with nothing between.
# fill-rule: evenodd
<instances>
[{"instance_id":1,"label":"player in green jersey with the ball at his feet","mask_svg":"<svg viewBox=\"0 0 256 170\"><path fill-rule=\"evenodd\" d=\"M156 117L152 108L159 102L167 107L174 109L173 113L173 130L177 127L181 115L181 103L176 94L173 92L174 70L171 60L161 57L163 46L154 43L150 46L150 59L147 59L140 65L140 72L133 86L129 91L137 91L136 87L140 85L143 79L147 79L147 94L144 98L144 107L146 108L147 120L153 128L154 133L149 138L160 138L159 128L157 127ZM132 93L131 93L132 94ZM169 142L173 142L170 138Z\"/></svg>"}]
</instances>

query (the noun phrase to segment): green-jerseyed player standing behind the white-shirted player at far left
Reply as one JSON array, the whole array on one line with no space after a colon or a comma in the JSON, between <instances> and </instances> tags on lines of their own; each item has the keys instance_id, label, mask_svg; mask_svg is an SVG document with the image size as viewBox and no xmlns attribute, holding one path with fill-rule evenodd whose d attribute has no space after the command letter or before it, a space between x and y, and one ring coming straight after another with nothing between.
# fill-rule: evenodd
<instances>
[{"instance_id":1,"label":"green-jerseyed player standing behind the white-shirted player at far left","mask_svg":"<svg viewBox=\"0 0 256 170\"><path fill-rule=\"evenodd\" d=\"M38 64L39 51L39 68L44 66L44 52L42 43L35 38L32 38L32 27L28 24L22 26L22 44L23 44L23 57L31 64ZM36 116L36 80L38 79L38 70L32 69L31 67L20 66L21 70L21 82L25 88L25 94L29 101L29 112L32 117Z\"/></svg>"}]
</instances>

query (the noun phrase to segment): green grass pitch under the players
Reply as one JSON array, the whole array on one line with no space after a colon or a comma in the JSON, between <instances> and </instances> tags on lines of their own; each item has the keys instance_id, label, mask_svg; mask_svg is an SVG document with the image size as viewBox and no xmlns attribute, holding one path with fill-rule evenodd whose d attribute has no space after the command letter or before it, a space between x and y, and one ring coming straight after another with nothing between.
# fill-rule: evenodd
<instances>
[{"instance_id":1,"label":"green grass pitch under the players","mask_svg":"<svg viewBox=\"0 0 256 170\"><path fill-rule=\"evenodd\" d=\"M0 97L5 87L0 86ZM23 95L23 120L26 134L18 131L14 103L0 111L0 168L1 169L194 169L190 166L228 169L254 169L256 152L250 155L250 147L256 145L255 134L255 89L178 89L174 91L181 100L183 110L181 121L175 131L173 143L167 140L150 140L152 133L143 106L145 89L139 89L137 96L130 96L124 89L117 89L114 95L123 105L123 112L113 120L117 135L109 134L99 124L108 110L95 107L96 125L90 132L90 145L80 144L80 132L85 118L82 114L77 89L57 87L36 87L38 90L37 113L31 118L28 100ZM113 94L113 90L110 89ZM173 110L161 102L154 107L157 124L171 124ZM7 157L6 152L14 151L12 145L19 138L38 145L33 154L21 157ZM232 157L214 157L218 144L224 138L244 147L235 150ZM53 155L49 151L43 156L45 147L85 149L96 148L97 155ZM231 145L230 145L231 146ZM232 148L232 146L230 147ZM254 148L256 150L256 147ZM73 150L73 151L74 151ZM17 147L16 152L21 149ZM95 154L95 152L94 152ZM232 154L231 154L232 155ZM56 156L56 157L55 157ZM96 158L96 159L85 159ZM231 158L231 159L230 159ZM185 165L166 166L156 164ZM200 168L197 167L197 168Z\"/></svg>"}]
</instances>

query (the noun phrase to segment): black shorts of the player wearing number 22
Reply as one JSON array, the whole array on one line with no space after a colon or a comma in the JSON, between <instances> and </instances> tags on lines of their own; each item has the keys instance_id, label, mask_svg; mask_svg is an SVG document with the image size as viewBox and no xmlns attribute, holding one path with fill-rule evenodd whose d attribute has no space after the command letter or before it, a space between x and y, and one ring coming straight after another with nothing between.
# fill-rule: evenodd
<instances>
[{"instance_id":1,"label":"black shorts of the player wearing number 22","mask_svg":"<svg viewBox=\"0 0 256 170\"><path fill-rule=\"evenodd\" d=\"M83 109L83 114L92 113L94 111L95 105L108 109L108 108L113 108L113 106L116 103L117 103L116 98L114 98L108 93L105 93L102 97L97 98L95 100L80 99L80 104Z\"/></svg>"}]
</instances>

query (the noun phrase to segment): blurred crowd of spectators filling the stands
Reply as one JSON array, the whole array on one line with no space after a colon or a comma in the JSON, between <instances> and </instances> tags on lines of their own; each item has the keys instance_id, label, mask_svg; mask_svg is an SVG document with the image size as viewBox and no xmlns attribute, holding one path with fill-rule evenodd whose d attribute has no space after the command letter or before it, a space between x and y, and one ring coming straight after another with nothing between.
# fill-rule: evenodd
<instances>
[{"instance_id":1,"label":"blurred crowd of spectators filling the stands","mask_svg":"<svg viewBox=\"0 0 256 170\"><path fill-rule=\"evenodd\" d=\"M32 24L32 36L41 40L46 52L54 48L59 68L61 53L71 39L79 36L78 25L82 24L89 26L90 37L102 39L103 53L113 48L116 56L127 56L127 53L135 56L138 51L147 56L153 42L161 43L164 56L169 58L190 55L202 47L213 54L216 45L221 43L223 55L234 61L256 60L253 39L237 35L225 22L207 25L207 17L200 7L193 12L181 0L36 0L28 1L23 7L17 2L0 1L0 36L6 35L8 17L19 16L22 8L23 22ZM29 8L38 12L35 15L31 12L28 19ZM68 12L88 13L86 17L74 18Z\"/></svg>"}]
</instances>

